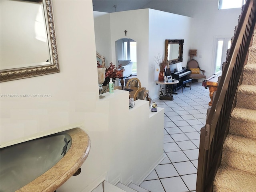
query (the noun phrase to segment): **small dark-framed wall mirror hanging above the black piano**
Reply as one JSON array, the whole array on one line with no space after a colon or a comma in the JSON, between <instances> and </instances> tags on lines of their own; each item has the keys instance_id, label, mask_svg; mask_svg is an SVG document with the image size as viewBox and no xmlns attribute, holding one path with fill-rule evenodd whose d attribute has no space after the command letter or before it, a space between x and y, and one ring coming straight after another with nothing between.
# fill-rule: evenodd
<instances>
[{"instance_id":1,"label":"small dark-framed wall mirror hanging above the black piano","mask_svg":"<svg viewBox=\"0 0 256 192\"><path fill-rule=\"evenodd\" d=\"M165 40L165 56L170 64L182 62L183 39L166 39Z\"/></svg>"}]
</instances>

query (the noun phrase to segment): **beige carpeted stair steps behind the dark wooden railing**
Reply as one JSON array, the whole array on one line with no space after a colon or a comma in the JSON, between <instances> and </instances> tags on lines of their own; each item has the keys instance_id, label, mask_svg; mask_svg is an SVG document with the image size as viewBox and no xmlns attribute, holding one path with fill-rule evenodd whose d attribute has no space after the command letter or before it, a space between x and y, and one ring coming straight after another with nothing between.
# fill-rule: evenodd
<instances>
[{"instance_id":1,"label":"beige carpeted stair steps behind the dark wooden railing","mask_svg":"<svg viewBox=\"0 0 256 192\"><path fill-rule=\"evenodd\" d=\"M256 30L230 116L213 191L256 191Z\"/></svg>"}]
</instances>

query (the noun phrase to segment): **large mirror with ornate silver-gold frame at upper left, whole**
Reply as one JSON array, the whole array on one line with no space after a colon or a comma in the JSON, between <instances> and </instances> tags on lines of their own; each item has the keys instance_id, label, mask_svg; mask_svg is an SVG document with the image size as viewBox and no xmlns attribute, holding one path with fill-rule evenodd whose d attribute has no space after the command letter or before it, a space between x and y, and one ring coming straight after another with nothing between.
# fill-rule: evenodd
<instances>
[{"instance_id":1,"label":"large mirror with ornate silver-gold frame at upper left, whole","mask_svg":"<svg viewBox=\"0 0 256 192\"><path fill-rule=\"evenodd\" d=\"M60 72L51 1L0 1L0 12L0 81Z\"/></svg>"}]
</instances>

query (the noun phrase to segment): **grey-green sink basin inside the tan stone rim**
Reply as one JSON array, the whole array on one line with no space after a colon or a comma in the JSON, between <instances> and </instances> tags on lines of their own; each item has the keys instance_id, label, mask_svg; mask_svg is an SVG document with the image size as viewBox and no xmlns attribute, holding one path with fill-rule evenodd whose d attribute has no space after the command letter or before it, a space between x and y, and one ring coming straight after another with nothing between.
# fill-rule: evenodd
<instances>
[{"instance_id":1,"label":"grey-green sink basin inside the tan stone rim","mask_svg":"<svg viewBox=\"0 0 256 192\"><path fill-rule=\"evenodd\" d=\"M65 131L0 149L0 192L16 191L44 174L70 149Z\"/></svg>"}]
</instances>

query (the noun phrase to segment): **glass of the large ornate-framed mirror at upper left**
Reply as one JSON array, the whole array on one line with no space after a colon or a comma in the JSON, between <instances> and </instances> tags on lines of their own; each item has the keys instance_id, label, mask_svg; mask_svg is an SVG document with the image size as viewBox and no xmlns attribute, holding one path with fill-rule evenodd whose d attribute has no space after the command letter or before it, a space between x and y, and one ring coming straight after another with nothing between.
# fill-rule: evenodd
<instances>
[{"instance_id":1,"label":"glass of the large ornate-framed mirror at upper left","mask_svg":"<svg viewBox=\"0 0 256 192\"><path fill-rule=\"evenodd\" d=\"M1 1L1 70L50 64L42 1ZM10 11L12 10L12 11Z\"/></svg>"}]
</instances>

